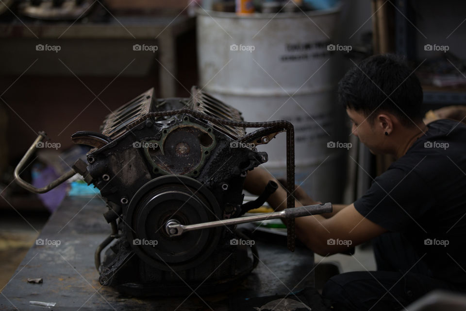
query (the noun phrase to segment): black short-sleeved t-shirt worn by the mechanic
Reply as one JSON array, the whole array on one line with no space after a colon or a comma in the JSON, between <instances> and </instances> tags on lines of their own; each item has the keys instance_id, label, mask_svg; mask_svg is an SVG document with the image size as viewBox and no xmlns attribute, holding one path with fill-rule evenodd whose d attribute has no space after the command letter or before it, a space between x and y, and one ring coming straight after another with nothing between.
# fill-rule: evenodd
<instances>
[{"instance_id":1,"label":"black short-sleeved t-shirt worn by the mechanic","mask_svg":"<svg viewBox=\"0 0 466 311\"><path fill-rule=\"evenodd\" d=\"M466 125L430 123L354 207L402 233L431 276L466 285Z\"/></svg>"}]
</instances>

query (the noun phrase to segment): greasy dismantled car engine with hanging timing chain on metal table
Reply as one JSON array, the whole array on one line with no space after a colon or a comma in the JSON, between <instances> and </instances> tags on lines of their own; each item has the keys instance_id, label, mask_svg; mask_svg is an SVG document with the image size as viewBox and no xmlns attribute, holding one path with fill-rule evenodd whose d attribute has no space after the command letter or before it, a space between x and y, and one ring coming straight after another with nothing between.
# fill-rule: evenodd
<instances>
[{"instance_id":1,"label":"greasy dismantled car engine with hanging timing chain on metal table","mask_svg":"<svg viewBox=\"0 0 466 311\"><path fill-rule=\"evenodd\" d=\"M258 129L246 134L250 127ZM24 188L41 193L80 173L100 190L112 228L95 252L101 285L139 296L183 294L199 285L198 292L212 293L237 284L257 265L257 250L250 258L248 247L235 243L247 238L235 231L235 224L252 221L241 216L261 206L278 187L271 182L256 201L243 204L247 172L267 161L256 147L283 131L287 190L292 193L291 123L244 122L238 110L195 86L189 98L168 99L157 99L152 88L110 113L100 133L72 135L73 142L92 148L87 163L78 160L49 186L34 188L17 173L33 144L15 176ZM39 133L34 143L45 137ZM294 207L291 195L287 207ZM300 216L304 214L286 218L291 250L294 217Z\"/></svg>"}]
</instances>

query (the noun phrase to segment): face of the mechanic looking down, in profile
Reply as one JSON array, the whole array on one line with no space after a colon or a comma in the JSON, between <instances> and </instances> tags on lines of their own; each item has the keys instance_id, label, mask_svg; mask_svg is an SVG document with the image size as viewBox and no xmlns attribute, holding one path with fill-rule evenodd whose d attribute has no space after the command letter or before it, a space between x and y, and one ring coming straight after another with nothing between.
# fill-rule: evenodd
<instances>
[{"instance_id":1,"label":"face of the mechanic looking down, in profile","mask_svg":"<svg viewBox=\"0 0 466 311\"><path fill-rule=\"evenodd\" d=\"M384 134L381 133L380 127L376 126L377 121L374 124L370 124L363 113L350 108L346 109L346 113L352 121L351 133L358 137L369 148L372 154L379 155L386 153L385 148L383 148Z\"/></svg>"}]
</instances>

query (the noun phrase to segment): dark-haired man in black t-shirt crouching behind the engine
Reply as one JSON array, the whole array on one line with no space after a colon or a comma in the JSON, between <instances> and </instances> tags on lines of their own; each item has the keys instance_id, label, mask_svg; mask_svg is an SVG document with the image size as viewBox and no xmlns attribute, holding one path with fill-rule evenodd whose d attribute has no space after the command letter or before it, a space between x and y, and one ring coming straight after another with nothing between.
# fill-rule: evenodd
<instances>
[{"instance_id":1,"label":"dark-haired man in black t-shirt crouching behind the engine","mask_svg":"<svg viewBox=\"0 0 466 311\"><path fill-rule=\"evenodd\" d=\"M434 289L466 291L466 125L422 120L422 88L394 55L372 56L338 87L352 134L372 154L397 160L366 194L331 214L296 219L296 234L322 256L373 239L377 271L343 273L323 289L334 310L399 310ZM249 172L245 189L259 194L273 177ZM302 189L296 206L316 204ZM286 190L268 200L286 207Z\"/></svg>"}]
</instances>

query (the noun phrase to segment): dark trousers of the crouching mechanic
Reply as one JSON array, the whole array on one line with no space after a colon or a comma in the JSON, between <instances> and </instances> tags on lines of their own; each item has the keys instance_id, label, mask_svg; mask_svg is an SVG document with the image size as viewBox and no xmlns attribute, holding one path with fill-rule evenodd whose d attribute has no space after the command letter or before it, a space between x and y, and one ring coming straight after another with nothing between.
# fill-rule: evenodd
<instances>
[{"instance_id":1,"label":"dark trousers of the crouching mechanic","mask_svg":"<svg viewBox=\"0 0 466 311\"><path fill-rule=\"evenodd\" d=\"M434 289L458 290L429 277L400 234L385 233L374 239L373 246L377 271L343 273L325 283L322 296L332 301L335 311L401 310Z\"/></svg>"}]
</instances>

